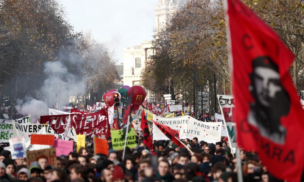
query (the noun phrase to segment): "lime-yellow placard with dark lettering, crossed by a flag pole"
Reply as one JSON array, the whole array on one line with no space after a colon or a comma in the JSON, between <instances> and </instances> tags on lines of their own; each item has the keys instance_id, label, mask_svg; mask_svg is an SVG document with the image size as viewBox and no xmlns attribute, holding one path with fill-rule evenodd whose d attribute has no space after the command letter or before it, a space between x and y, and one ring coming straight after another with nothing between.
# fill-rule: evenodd
<instances>
[{"instance_id":1,"label":"lime-yellow placard with dark lettering, crossed by a flag pole","mask_svg":"<svg viewBox=\"0 0 304 182\"><path fill-rule=\"evenodd\" d=\"M122 129L111 131L112 147L114 150L122 150L125 145L125 138L122 138ZM134 128L131 128L127 136L126 146L130 149L136 148Z\"/></svg>"}]
</instances>

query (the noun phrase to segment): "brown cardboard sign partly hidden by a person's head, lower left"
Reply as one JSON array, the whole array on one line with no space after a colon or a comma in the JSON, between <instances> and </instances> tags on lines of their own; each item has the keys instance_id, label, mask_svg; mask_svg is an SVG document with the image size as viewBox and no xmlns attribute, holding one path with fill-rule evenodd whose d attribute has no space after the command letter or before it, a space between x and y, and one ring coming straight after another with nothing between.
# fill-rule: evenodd
<instances>
[{"instance_id":1,"label":"brown cardboard sign partly hidden by a person's head, lower left","mask_svg":"<svg viewBox=\"0 0 304 182\"><path fill-rule=\"evenodd\" d=\"M38 157L39 155L42 155L42 154L46 155L48 165L53 165L55 168L57 168L57 157L56 157L55 148L27 151L26 152L27 168L30 167L31 162L36 161L36 157Z\"/></svg>"}]
</instances>

